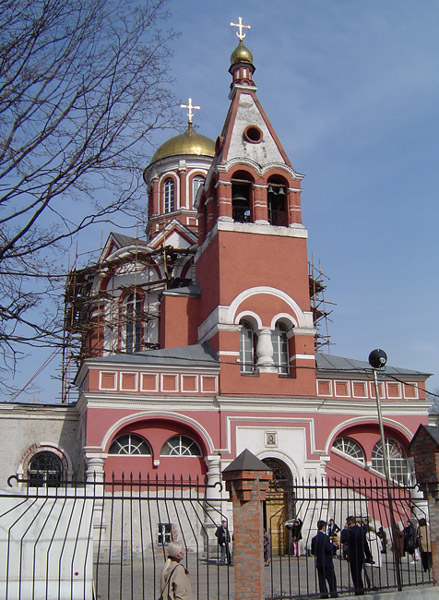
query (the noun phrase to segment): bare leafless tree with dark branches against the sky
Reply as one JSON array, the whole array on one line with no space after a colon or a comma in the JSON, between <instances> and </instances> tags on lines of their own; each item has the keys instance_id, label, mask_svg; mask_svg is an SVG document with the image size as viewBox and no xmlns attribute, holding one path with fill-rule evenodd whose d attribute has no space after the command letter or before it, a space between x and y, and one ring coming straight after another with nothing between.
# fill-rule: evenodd
<instances>
[{"instance_id":1,"label":"bare leafless tree with dark branches against the sky","mask_svg":"<svg viewBox=\"0 0 439 600\"><path fill-rule=\"evenodd\" d=\"M56 252L136 209L151 134L174 118L166 18L165 0L0 0L3 366L62 338Z\"/></svg>"}]
</instances>

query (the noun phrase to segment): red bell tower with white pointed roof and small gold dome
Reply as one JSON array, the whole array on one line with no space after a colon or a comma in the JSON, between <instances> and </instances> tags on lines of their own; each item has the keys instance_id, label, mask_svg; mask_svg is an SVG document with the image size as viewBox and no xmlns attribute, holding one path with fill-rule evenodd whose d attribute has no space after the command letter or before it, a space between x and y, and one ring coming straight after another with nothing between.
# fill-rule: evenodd
<instances>
[{"instance_id":1,"label":"red bell tower with white pointed roof and small gold dome","mask_svg":"<svg viewBox=\"0 0 439 600\"><path fill-rule=\"evenodd\" d=\"M221 393L315 394L301 180L257 96L242 23L230 107L198 201L198 340L221 362Z\"/></svg>"}]
</instances>

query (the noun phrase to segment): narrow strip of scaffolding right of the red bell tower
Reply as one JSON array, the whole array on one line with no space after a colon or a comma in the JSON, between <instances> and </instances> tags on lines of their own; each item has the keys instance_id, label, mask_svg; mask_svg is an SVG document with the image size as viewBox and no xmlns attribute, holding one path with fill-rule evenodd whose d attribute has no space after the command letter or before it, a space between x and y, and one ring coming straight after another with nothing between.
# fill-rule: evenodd
<instances>
[{"instance_id":1,"label":"narrow strip of scaffolding right of the red bell tower","mask_svg":"<svg viewBox=\"0 0 439 600\"><path fill-rule=\"evenodd\" d=\"M320 260L318 261L318 267L315 265L314 256L308 262L308 278L311 311L314 327L317 330L314 338L314 347L316 351L325 347L328 354L330 354L333 343L329 335L329 322L332 323L330 315L333 309L330 309L329 306L335 306L336 304L335 302L329 302L325 298L326 282L329 281L329 277L322 272Z\"/></svg>"}]
</instances>

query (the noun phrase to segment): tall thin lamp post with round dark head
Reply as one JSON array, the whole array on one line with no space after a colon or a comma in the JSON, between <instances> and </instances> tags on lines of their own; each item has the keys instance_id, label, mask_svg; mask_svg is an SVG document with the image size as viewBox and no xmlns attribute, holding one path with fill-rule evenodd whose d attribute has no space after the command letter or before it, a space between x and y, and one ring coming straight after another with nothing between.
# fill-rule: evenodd
<instances>
[{"instance_id":1,"label":"tall thin lamp post with round dark head","mask_svg":"<svg viewBox=\"0 0 439 600\"><path fill-rule=\"evenodd\" d=\"M387 497L389 500L389 512L390 512L390 525L392 528L392 548L393 548L393 557L395 560L395 571L396 571L396 584L398 586L398 590L402 590L402 579L401 579L401 569L400 569L400 556L396 550L396 521L395 515L393 513L393 498L390 489L390 461L389 461L389 452L386 444L386 438L384 435L384 426L383 426L383 415L381 412L381 398L380 398L380 390L378 387L378 370L384 369L387 363L387 354L384 350L380 350L377 348L376 350L372 350L369 354L369 364L373 369L373 381L375 384L375 397L377 403L377 413L378 413L378 423L380 427L380 436L381 436L381 446L383 448L383 462L384 462L384 475L386 478L386 488L387 488Z\"/></svg>"}]
</instances>

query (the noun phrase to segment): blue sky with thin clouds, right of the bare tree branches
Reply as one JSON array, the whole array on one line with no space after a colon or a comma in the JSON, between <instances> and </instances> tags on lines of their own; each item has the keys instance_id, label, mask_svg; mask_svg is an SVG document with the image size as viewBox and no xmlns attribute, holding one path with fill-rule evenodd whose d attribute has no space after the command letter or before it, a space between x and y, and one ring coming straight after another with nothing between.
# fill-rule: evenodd
<instances>
[{"instance_id":1,"label":"blue sky with thin clouds, right of the bare tree branches","mask_svg":"<svg viewBox=\"0 0 439 600\"><path fill-rule=\"evenodd\" d=\"M174 91L201 106L195 124L213 139L238 42L229 23L251 25L258 97L306 175L308 251L336 303L331 353L367 360L380 347L390 364L438 373L439 2L174 0L170 9L181 32ZM438 390L439 377L428 387Z\"/></svg>"}]
</instances>

